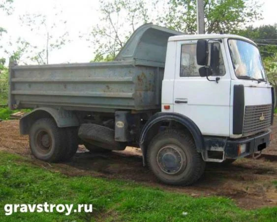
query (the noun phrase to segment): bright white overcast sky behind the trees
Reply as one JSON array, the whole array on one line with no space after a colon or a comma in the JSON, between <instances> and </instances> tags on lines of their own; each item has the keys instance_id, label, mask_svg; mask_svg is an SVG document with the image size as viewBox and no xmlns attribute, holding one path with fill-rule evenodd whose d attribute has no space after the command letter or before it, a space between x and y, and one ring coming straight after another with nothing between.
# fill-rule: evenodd
<instances>
[{"instance_id":1,"label":"bright white overcast sky behind the trees","mask_svg":"<svg viewBox=\"0 0 277 222\"><path fill-rule=\"evenodd\" d=\"M261 10L264 19L252 25L277 23L277 0L260 0L260 2L263 4ZM19 19L28 13L45 14L49 24L56 23L59 26L53 29L54 34L59 35L67 31L70 38L70 42L62 49L50 52L49 63L82 63L92 60L95 46L90 45L91 43L86 40L84 34L100 23L98 0L14 0L13 7L12 15L0 13L0 27L7 30L7 34L0 37L2 38L0 40L15 42L21 36L34 45L45 45L43 36L45 27L38 25L37 30L31 32L30 27L22 25ZM23 20L26 22L27 18L23 17ZM12 50L12 46L7 43L5 47ZM0 49L0 57L2 56L6 57Z\"/></svg>"}]
</instances>

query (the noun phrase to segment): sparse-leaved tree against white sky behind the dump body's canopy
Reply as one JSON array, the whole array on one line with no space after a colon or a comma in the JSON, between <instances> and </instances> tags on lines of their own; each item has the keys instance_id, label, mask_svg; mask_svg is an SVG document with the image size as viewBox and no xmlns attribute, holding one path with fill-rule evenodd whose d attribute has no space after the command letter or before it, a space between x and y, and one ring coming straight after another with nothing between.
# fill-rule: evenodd
<instances>
[{"instance_id":1,"label":"sparse-leaved tree against white sky behind the dump body's canopy","mask_svg":"<svg viewBox=\"0 0 277 222\"><path fill-rule=\"evenodd\" d=\"M149 21L144 0L100 0L100 23L92 27L89 41L97 46L93 61L114 60L135 29Z\"/></svg>"}]
</instances>

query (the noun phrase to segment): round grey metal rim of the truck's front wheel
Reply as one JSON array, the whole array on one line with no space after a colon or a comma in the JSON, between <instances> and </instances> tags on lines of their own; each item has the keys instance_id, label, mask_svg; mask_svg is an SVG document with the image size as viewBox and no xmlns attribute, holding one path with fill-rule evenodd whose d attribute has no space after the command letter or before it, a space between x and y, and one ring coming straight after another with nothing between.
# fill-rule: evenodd
<instances>
[{"instance_id":1,"label":"round grey metal rim of the truck's front wheel","mask_svg":"<svg viewBox=\"0 0 277 222\"><path fill-rule=\"evenodd\" d=\"M159 149L157 164L166 174L178 174L186 167L185 152L176 145L167 145Z\"/></svg>"}]
</instances>

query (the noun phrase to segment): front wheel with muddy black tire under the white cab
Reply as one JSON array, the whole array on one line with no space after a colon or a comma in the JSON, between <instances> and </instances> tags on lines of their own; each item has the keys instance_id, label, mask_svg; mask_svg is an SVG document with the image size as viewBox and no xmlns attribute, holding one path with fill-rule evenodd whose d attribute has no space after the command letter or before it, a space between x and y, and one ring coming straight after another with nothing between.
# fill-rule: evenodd
<instances>
[{"instance_id":1,"label":"front wheel with muddy black tire under the white cab","mask_svg":"<svg viewBox=\"0 0 277 222\"><path fill-rule=\"evenodd\" d=\"M169 185L193 184L206 165L193 139L175 129L160 132L152 139L147 161L155 176Z\"/></svg>"}]
</instances>

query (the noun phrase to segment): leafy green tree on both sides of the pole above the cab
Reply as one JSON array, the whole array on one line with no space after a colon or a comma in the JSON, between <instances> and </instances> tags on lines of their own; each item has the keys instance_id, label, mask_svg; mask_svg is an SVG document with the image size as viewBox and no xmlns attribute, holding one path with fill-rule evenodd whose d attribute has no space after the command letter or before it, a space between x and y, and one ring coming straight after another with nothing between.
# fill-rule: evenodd
<instances>
[{"instance_id":1,"label":"leafy green tree on both sides of the pole above the cab","mask_svg":"<svg viewBox=\"0 0 277 222\"><path fill-rule=\"evenodd\" d=\"M206 33L232 33L261 17L256 0L204 0ZM169 0L165 26L196 34L196 0Z\"/></svg>"}]
</instances>

